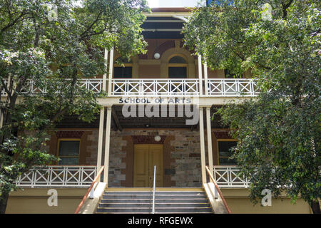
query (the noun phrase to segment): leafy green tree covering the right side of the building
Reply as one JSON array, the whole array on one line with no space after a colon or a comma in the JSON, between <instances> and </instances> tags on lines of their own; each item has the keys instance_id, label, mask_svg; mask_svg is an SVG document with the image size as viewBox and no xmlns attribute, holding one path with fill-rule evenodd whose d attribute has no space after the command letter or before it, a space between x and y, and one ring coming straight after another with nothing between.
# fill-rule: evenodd
<instances>
[{"instance_id":1,"label":"leafy green tree covering the right side of the building","mask_svg":"<svg viewBox=\"0 0 321 228\"><path fill-rule=\"evenodd\" d=\"M185 26L208 66L250 69L258 82L258 97L218 111L238 139L234 157L253 202L267 188L320 213L320 12L312 0L215 1Z\"/></svg>"}]
</instances>

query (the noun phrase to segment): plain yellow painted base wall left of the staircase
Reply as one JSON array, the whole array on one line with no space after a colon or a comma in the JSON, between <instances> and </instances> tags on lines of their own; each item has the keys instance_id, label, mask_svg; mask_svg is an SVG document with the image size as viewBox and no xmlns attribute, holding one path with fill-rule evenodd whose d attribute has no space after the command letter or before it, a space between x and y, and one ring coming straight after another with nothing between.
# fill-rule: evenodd
<instances>
[{"instance_id":1,"label":"plain yellow painted base wall left of the staircase","mask_svg":"<svg viewBox=\"0 0 321 228\"><path fill-rule=\"evenodd\" d=\"M6 214L73 214L87 189L56 188L58 206L49 207L49 188L29 188L11 192Z\"/></svg>"}]
</instances>

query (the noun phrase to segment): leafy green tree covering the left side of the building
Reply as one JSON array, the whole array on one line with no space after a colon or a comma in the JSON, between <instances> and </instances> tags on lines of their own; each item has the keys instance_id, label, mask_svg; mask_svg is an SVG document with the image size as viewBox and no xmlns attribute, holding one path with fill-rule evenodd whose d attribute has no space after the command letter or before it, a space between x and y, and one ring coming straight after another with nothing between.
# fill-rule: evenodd
<instances>
[{"instance_id":1,"label":"leafy green tree covering the left side of the building","mask_svg":"<svg viewBox=\"0 0 321 228\"><path fill-rule=\"evenodd\" d=\"M63 115L95 118L105 94L78 85L106 73L104 49L144 52L143 11L145 0L0 0L0 213L19 175L57 160L44 145Z\"/></svg>"}]
</instances>

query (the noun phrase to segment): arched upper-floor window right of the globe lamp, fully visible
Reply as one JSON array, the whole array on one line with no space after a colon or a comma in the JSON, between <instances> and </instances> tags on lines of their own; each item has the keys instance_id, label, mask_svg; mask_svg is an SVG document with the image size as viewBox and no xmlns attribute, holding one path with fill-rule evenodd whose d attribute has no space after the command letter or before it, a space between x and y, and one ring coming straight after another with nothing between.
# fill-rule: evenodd
<instances>
[{"instance_id":1,"label":"arched upper-floor window right of the globe lamp, fully visible","mask_svg":"<svg viewBox=\"0 0 321 228\"><path fill-rule=\"evenodd\" d=\"M183 56L173 56L168 61L168 78L187 78L188 62Z\"/></svg>"}]
</instances>

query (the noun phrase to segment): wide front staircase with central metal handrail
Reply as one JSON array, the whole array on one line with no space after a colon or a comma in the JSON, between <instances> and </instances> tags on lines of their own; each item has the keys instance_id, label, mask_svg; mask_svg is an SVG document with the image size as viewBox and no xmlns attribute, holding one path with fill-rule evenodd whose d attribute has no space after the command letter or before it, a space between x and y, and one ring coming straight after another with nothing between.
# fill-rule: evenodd
<instances>
[{"instance_id":1,"label":"wide front staircase with central metal handrail","mask_svg":"<svg viewBox=\"0 0 321 228\"><path fill-rule=\"evenodd\" d=\"M159 188L155 197L156 213L213 213L202 188ZM153 207L150 189L108 189L101 197L97 214L149 214Z\"/></svg>"}]
</instances>

